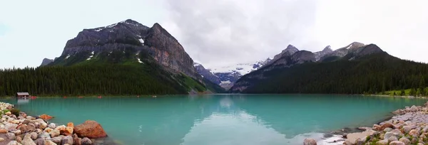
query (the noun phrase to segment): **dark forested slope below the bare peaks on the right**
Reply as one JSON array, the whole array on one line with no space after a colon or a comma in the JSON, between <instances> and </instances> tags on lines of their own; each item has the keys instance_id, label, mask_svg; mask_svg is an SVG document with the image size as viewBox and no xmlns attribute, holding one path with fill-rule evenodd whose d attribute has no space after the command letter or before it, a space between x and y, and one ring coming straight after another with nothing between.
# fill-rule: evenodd
<instances>
[{"instance_id":1,"label":"dark forested slope below the bare peaks on the right","mask_svg":"<svg viewBox=\"0 0 428 145\"><path fill-rule=\"evenodd\" d=\"M331 62L257 70L238 82L252 84L241 93L374 94L410 88L426 93L427 79L427 64L376 53L355 60L345 56Z\"/></svg>"}]
</instances>

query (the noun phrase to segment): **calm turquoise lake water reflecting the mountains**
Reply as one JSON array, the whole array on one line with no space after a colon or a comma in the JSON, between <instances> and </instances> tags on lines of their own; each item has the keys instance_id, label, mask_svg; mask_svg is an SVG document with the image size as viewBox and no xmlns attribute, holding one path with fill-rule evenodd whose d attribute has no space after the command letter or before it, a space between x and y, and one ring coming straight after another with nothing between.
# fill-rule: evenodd
<instances>
[{"instance_id":1,"label":"calm turquoise lake water reflecting the mountains","mask_svg":"<svg viewBox=\"0 0 428 145\"><path fill-rule=\"evenodd\" d=\"M343 127L369 126L390 112L427 100L351 95L173 95L39 97L16 104L51 122L99 122L119 144L302 144Z\"/></svg>"}]
</instances>

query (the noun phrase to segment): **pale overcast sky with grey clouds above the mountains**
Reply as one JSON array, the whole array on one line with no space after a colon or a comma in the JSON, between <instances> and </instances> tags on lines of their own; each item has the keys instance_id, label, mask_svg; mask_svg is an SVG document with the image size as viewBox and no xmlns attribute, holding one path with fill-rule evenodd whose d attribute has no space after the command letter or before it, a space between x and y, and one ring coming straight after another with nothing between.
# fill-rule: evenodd
<instances>
[{"instance_id":1,"label":"pale overcast sky with grey clouds above the mountains","mask_svg":"<svg viewBox=\"0 0 428 145\"><path fill-rule=\"evenodd\" d=\"M1 1L0 68L38 66L83 28L128 18L160 23L205 68L354 41L428 62L427 0Z\"/></svg>"}]
</instances>

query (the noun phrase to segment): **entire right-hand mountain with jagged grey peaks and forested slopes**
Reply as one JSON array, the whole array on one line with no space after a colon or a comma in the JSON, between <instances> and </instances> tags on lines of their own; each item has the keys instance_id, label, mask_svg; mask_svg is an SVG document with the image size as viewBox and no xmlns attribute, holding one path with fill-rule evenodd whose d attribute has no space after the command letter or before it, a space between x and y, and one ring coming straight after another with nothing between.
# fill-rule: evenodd
<instances>
[{"instance_id":1,"label":"entire right-hand mountain with jagged grey peaks and forested slopes","mask_svg":"<svg viewBox=\"0 0 428 145\"><path fill-rule=\"evenodd\" d=\"M235 93L362 94L425 87L428 65L401 60L377 45L351 43L312 53L288 45L235 82Z\"/></svg>"}]
</instances>

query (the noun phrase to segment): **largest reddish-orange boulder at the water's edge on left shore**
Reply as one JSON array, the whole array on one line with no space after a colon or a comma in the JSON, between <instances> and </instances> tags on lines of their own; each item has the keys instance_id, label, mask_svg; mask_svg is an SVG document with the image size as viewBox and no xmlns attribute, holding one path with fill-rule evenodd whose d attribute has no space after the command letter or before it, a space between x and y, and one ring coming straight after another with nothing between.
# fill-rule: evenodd
<instances>
[{"instance_id":1,"label":"largest reddish-orange boulder at the water's edge on left shore","mask_svg":"<svg viewBox=\"0 0 428 145\"><path fill-rule=\"evenodd\" d=\"M101 124L93 120L86 120L83 124L78 124L74 127L74 132L80 137L88 137L91 139L107 136Z\"/></svg>"}]
</instances>

